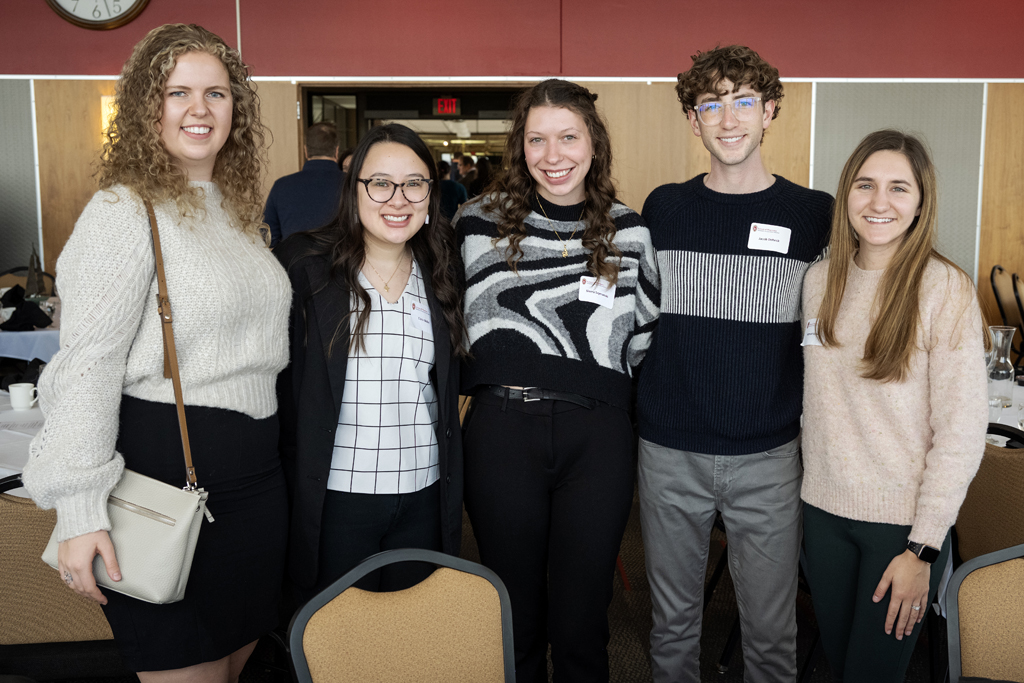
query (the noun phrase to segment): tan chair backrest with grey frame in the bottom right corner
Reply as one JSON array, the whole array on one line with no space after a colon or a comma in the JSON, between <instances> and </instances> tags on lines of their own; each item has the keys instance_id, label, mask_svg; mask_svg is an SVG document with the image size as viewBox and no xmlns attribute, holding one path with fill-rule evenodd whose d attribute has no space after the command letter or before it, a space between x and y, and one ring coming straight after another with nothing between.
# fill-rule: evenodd
<instances>
[{"instance_id":1,"label":"tan chair backrest with grey frame in the bottom right corner","mask_svg":"<svg viewBox=\"0 0 1024 683\"><path fill-rule=\"evenodd\" d=\"M1024 545L965 562L946 589L949 682L1024 682Z\"/></svg>"}]
</instances>

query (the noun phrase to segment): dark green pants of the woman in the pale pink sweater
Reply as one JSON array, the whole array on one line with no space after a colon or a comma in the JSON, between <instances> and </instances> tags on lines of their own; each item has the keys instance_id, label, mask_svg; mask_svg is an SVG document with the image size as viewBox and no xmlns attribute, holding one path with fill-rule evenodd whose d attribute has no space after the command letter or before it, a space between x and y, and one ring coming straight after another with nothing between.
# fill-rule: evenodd
<instances>
[{"instance_id":1,"label":"dark green pants of the woman in the pale pink sweater","mask_svg":"<svg viewBox=\"0 0 1024 683\"><path fill-rule=\"evenodd\" d=\"M804 504L804 551L807 581L825 656L844 683L899 683L921 634L896 640L886 635L892 591L881 602L871 596L894 557L906 550L909 526L862 522L838 517ZM949 556L949 535L932 565L930 595L942 578ZM922 609L929 609L922 605Z\"/></svg>"}]
</instances>

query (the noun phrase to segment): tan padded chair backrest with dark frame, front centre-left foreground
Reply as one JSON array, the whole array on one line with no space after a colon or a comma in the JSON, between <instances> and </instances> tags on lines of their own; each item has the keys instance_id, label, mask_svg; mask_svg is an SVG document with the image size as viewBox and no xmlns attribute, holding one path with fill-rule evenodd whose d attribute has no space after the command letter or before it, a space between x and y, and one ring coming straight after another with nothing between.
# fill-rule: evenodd
<instances>
[{"instance_id":1,"label":"tan padded chair backrest with dark frame, front centre-left foreground","mask_svg":"<svg viewBox=\"0 0 1024 683\"><path fill-rule=\"evenodd\" d=\"M403 591L352 587L381 566L404 561L439 568ZM301 682L515 680L505 586L482 565L429 550L367 558L296 613L289 643Z\"/></svg>"}]
</instances>

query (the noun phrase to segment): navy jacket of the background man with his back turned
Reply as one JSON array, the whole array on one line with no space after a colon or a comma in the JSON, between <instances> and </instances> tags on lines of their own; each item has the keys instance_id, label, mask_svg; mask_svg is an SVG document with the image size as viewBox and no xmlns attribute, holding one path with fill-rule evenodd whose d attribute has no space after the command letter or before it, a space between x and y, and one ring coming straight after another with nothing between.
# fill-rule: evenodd
<instances>
[{"instance_id":1,"label":"navy jacket of the background man with his back turned","mask_svg":"<svg viewBox=\"0 0 1024 683\"><path fill-rule=\"evenodd\" d=\"M310 159L298 173L278 178L266 198L263 220L270 226L270 246L294 232L311 230L334 218L345 174L338 162Z\"/></svg>"}]
</instances>

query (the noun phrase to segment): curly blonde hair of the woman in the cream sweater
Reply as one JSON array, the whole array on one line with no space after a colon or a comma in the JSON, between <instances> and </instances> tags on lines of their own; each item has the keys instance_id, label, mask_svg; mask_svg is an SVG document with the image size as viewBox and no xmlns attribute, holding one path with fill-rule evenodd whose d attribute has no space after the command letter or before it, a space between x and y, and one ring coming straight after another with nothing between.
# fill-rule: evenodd
<instances>
[{"instance_id":1,"label":"curly blonde hair of the woman in the cream sweater","mask_svg":"<svg viewBox=\"0 0 1024 683\"><path fill-rule=\"evenodd\" d=\"M266 132L259 117L259 97L249 69L237 50L219 36L195 24L166 24L143 38L118 79L116 114L104 131L99 186L127 185L154 203L174 201L182 216L202 211L202 193L188 185L188 174L174 163L160 140L164 88L187 52L217 57L231 90L231 132L217 154L213 180L224 196L224 208L244 232L261 234Z\"/></svg>"}]
</instances>

